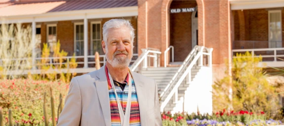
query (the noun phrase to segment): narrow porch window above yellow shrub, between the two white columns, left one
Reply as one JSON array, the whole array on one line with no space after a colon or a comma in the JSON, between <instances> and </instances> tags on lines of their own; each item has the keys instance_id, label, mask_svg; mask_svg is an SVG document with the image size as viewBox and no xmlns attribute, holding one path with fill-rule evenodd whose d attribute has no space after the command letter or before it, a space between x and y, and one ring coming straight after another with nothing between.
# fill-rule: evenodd
<instances>
[{"instance_id":1,"label":"narrow porch window above yellow shrub, between the two white columns, left one","mask_svg":"<svg viewBox=\"0 0 284 126\"><path fill-rule=\"evenodd\" d=\"M50 52L53 52L53 47L56 45L57 42L57 28L56 24L48 24L47 28L47 44L50 47Z\"/></svg>"}]
</instances>

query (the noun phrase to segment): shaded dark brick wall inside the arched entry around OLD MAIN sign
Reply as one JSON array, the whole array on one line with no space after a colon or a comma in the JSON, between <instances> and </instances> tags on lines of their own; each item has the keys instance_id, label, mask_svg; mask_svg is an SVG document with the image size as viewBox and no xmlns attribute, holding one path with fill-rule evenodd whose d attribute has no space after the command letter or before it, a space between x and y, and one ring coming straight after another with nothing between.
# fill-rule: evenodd
<instances>
[{"instance_id":1,"label":"shaded dark brick wall inside the arched entry around OLD MAIN sign","mask_svg":"<svg viewBox=\"0 0 284 126\"><path fill-rule=\"evenodd\" d=\"M171 8L196 7L193 0L173 0ZM174 61L184 61L192 49L192 12L170 13L170 45L174 46Z\"/></svg>"}]
</instances>

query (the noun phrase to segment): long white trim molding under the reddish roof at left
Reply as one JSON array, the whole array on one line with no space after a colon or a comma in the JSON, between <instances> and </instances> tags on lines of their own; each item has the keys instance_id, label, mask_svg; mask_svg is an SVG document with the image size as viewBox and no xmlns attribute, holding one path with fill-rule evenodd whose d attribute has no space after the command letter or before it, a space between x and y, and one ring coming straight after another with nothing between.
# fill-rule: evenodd
<instances>
[{"instance_id":1,"label":"long white trim molding under the reddish roof at left","mask_svg":"<svg viewBox=\"0 0 284 126\"><path fill-rule=\"evenodd\" d=\"M34 15L5 16L6 23L52 22L138 16L138 6L48 12ZM1 22L0 22L1 24Z\"/></svg>"}]
</instances>

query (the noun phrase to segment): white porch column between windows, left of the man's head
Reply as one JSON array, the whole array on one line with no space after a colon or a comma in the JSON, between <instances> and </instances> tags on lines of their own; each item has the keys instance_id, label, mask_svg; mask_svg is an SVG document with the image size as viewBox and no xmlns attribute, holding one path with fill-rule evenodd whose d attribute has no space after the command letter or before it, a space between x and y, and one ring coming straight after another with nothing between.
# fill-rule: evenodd
<instances>
[{"instance_id":1,"label":"white porch column between windows, left of the man's head","mask_svg":"<svg viewBox=\"0 0 284 126\"><path fill-rule=\"evenodd\" d=\"M84 68L88 68L88 20L84 18Z\"/></svg>"}]
</instances>

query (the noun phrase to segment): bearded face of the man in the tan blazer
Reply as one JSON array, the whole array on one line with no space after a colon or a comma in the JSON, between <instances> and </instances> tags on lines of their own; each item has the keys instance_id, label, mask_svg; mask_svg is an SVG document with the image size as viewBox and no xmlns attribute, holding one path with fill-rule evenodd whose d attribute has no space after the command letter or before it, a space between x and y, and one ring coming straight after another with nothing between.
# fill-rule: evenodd
<instances>
[{"instance_id":1,"label":"bearded face of the man in the tan blazer","mask_svg":"<svg viewBox=\"0 0 284 126\"><path fill-rule=\"evenodd\" d=\"M116 68L128 67L133 55L129 28L109 29L107 42L102 41L102 46L108 63Z\"/></svg>"}]
</instances>

